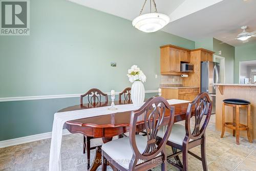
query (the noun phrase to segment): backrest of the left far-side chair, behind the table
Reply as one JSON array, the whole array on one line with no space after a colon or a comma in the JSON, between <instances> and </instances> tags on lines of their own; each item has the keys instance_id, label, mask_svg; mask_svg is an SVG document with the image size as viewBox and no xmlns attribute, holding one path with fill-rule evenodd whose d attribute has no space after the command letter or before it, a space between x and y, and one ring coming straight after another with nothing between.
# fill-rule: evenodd
<instances>
[{"instance_id":1,"label":"backrest of the left far-side chair, behind the table","mask_svg":"<svg viewBox=\"0 0 256 171\"><path fill-rule=\"evenodd\" d=\"M108 95L101 92L99 89L91 89L86 94L80 96L80 104L83 104L83 97L88 98L88 103L98 103L101 102L101 96L105 97L105 102L108 102Z\"/></svg>"}]
</instances>

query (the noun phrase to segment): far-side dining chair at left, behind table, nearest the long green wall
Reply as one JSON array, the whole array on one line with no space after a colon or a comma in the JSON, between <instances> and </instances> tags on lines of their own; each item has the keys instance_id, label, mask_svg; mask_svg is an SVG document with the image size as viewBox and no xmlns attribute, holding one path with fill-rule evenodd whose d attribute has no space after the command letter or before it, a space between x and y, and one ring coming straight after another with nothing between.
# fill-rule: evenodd
<instances>
[{"instance_id":1,"label":"far-side dining chair at left, behind table, nearest the long green wall","mask_svg":"<svg viewBox=\"0 0 256 171\"><path fill-rule=\"evenodd\" d=\"M100 103L105 98L105 103L108 103L108 95L101 92L99 89L91 89L86 94L80 96L80 105L83 105L83 98L87 97L88 103L92 105L96 105ZM87 153L87 162L88 168L90 167L90 151L91 149L95 149L96 146L91 147L91 139L94 139L90 136L83 136L83 154Z\"/></svg>"}]
</instances>

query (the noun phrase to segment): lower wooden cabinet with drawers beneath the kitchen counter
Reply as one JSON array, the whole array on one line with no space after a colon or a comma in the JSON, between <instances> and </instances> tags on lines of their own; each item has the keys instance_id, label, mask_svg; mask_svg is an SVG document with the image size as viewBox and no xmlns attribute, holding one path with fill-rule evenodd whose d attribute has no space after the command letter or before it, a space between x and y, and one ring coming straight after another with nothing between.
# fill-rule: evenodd
<instances>
[{"instance_id":1,"label":"lower wooden cabinet with drawers beneath the kitchen counter","mask_svg":"<svg viewBox=\"0 0 256 171\"><path fill-rule=\"evenodd\" d=\"M199 88L165 89L162 88L162 97L166 99L179 99L193 101L199 94Z\"/></svg>"}]
</instances>

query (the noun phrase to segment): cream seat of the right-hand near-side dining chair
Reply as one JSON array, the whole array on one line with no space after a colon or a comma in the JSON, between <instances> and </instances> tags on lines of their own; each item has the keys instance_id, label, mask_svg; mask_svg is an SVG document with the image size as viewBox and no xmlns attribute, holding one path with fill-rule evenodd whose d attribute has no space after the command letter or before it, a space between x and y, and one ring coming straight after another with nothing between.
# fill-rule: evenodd
<instances>
[{"instance_id":1,"label":"cream seat of the right-hand near-side dining chair","mask_svg":"<svg viewBox=\"0 0 256 171\"><path fill-rule=\"evenodd\" d=\"M164 136L163 128L159 130L157 136L163 138ZM173 142L175 144L182 145L185 136L186 136L185 126L181 124L174 124L172 127L172 132L170 133L170 136L168 138L168 141ZM190 139L189 141L192 141L192 139Z\"/></svg>"}]
</instances>

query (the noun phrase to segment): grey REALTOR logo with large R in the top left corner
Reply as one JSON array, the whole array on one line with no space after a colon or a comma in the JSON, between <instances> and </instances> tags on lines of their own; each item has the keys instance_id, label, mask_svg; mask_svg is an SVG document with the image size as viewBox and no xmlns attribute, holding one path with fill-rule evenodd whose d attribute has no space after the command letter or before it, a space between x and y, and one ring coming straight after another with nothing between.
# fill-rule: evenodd
<instances>
[{"instance_id":1,"label":"grey REALTOR logo with large R in the top left corner","mask_svg":"<svg viewBox=\"0 0 256 171\"><path fill-rule=\"evenodd\" d=\"M1 1L0 35L29 35L29 20L29 1Z\"/></svg>"}]
</instances>

